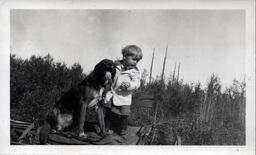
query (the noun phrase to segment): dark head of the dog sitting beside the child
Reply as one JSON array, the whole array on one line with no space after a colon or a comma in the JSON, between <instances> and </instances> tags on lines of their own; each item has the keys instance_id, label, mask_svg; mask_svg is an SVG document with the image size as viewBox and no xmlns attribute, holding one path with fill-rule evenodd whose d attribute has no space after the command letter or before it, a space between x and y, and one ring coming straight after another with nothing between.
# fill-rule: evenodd
<instances>
[{"instance_id":1,"label":"dark head of the dog sitting beside the child","mask_svg":"<svg viewBox=\"0 0 256 155\"><path fill-rule=\"evenodd\" d=\"M112 60L104 59L94 67L93 72L95 80L103 87L109 87L112 85L116 74L116 64Z\"/></svg>"}]
</instances>

